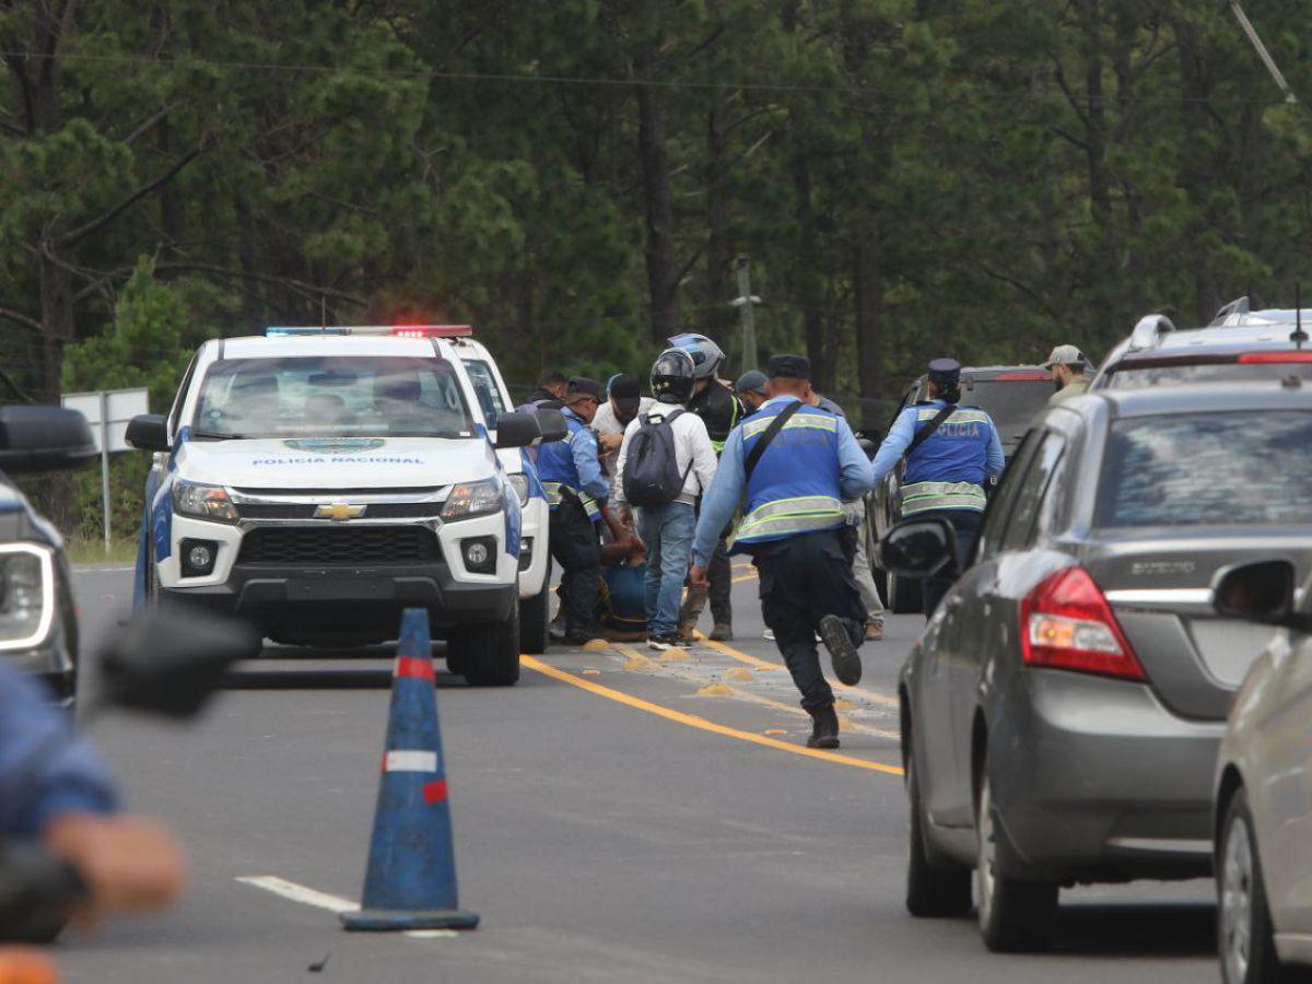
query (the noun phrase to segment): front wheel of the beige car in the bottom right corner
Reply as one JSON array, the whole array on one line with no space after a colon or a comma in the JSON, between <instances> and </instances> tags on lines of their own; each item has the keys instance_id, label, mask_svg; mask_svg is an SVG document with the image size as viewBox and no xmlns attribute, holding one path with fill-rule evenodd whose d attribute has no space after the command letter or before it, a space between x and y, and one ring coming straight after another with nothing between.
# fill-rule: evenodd
<instances>
[{"instance_id":1,"label":"front wheel of the beige car in the bottom right corner","mask_svg":"<svg viewBox=\"0 0 1312 984\"><path fill-rule=\"evenodd\" d=\"M1225 984L1275 984L1286 980L1275 953L1271 912L1253 836L1253 815L1244 790L1225 811L1218 857L1216 946Z\"/></svg>"}]
</instances>

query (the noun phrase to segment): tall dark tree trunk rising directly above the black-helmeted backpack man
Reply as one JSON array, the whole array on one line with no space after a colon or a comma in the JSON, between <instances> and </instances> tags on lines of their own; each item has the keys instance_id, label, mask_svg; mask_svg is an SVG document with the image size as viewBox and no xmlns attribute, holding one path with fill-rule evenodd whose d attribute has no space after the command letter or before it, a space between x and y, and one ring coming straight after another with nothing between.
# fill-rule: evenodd
<instances>
[{"instance_id":1,"label":"tall dark tree trunk rising directly above the black-helmeted backpack man","mask_svg":"<svg viewBox=\"0 0 1312 984\"><path fill-rule=\"evenodd\" d=\"M678 335L678 268L674 264L674 206L669 192L665 126L657 94L638 87L638 161L643 172L647 214L647 283L651 293L651 333L656 345Z\"/></svg>"}]
</instances>

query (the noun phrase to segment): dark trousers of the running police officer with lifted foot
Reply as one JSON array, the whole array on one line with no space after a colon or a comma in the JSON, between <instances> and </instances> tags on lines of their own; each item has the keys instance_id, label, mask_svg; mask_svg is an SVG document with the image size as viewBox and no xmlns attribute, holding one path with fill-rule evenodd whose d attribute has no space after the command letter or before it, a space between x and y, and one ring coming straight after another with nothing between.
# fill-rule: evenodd
<instances>
[{"instance_id":1,"label":"dark trousers of the running police officer with lifted foot","mask_svg":"<svg viewBox=\"0 0 1312 984\"><path fill-rule=\"evenodd\" d=\"M754 563L761 573L761 614L774 630L774 643L802 691L802 706L823 710L833 703L833 690L816 651L820 619L841 618L857 646L866 638L866 607L838 533L804 533L762 543L754 551Z\"/></svg>"}]
</instances>

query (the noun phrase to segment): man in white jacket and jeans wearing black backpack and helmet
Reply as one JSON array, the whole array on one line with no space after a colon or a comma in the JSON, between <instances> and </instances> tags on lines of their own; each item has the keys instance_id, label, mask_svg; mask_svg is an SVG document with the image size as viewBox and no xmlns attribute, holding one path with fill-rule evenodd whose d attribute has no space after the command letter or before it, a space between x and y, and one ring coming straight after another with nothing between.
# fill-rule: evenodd
<instances>
[{"instance_id":1,"label":"man in white jacket and jeans wearing black backpack and helmet","mask_svg":"<svg viewBox=\"0 0 1312 984\"><path fill-rule=\"evenodd\" d=\"M651 375L656 403L625 429L615 463L615 502L638 509L638 535L647 543L647 644L656 651L678 644L694 504L715 475L706 424L684 405L693 395L693 370L686 352L660 354Z\"/></svg>"}]
</instances>

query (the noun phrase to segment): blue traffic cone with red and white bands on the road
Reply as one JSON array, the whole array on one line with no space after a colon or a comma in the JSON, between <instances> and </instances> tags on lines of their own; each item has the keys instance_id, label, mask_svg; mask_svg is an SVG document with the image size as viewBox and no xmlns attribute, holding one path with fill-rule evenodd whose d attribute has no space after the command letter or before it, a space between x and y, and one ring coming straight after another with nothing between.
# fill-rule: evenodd
<instances>
[{"instance_id":1,"label":"blue traffic cone with red and white bands on the road","mask_svg":"<svg viewBox=\"0 0 1312 984\"><path fill-rule=\"evenodd\" d=\"M459 911L457 899L433 639L422 609L407 609L401 617L365 893L359 912L344 912L341 921L361 930L479 925L475 913Z\"/></svg>"}]
</instances>

